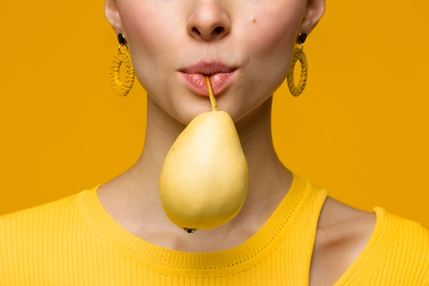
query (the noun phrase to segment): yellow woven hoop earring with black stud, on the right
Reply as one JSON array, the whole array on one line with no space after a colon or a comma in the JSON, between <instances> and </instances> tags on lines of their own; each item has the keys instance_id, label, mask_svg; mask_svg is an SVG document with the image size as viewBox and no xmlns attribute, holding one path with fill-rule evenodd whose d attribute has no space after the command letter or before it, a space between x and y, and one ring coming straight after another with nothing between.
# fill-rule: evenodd
<instances>
[{"instance_id":1,"label":"yellow woven hoop earring with black stud, on the right","mask_svg":"<svg viewBox=\"0 0 429 286\"><path fill-rule=\"evenodd\" d=\"M306 54L302 49L304 49L304 42L307 38L306 32L299 33L297 38L297 43L295 44L295 48L293 49L291 67L289 67L289 71L286 75L289 91L295 97L299 96L306 87L307 83L307 73L308 73L308 64ZM299 78L299 83L295 86L295 81L293 79L293 72L295 71L295 64L297 61L301 63L301 78Z\"/></svg>"}]
</instances>

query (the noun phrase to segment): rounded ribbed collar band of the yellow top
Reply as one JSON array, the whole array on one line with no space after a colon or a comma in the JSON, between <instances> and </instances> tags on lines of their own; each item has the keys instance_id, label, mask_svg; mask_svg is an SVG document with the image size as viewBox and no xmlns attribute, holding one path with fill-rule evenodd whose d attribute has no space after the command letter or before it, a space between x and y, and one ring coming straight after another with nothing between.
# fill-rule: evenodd
<instances>
[{"instance_id":1,"label":"rounded ribbed collar band of the yellow top","mask_svg":"<svg viewBox=\"0 0 429 286\"><path fill-rule=\"evenodd\" d=\"M293 175L291 187L282 202L275 208L267 222L249 239L228 250L217 252L182 252L149 243L136 237L119 225L103 208L97 189L82 191L77 195L76 206L82 219L109 243L127 257L146 265L158 273L168 270L180 276L201 275L219 271L221 276L242 272L260 263L289 232L299 209L309 198L306 191L310 182ZM197 271L196 271L197 270Z\"/></svg>"}]
</instances>

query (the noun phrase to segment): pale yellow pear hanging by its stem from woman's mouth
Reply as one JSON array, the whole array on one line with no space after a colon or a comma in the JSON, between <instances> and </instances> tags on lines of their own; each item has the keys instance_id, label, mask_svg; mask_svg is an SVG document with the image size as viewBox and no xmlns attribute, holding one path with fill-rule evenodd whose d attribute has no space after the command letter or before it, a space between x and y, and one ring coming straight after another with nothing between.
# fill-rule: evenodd
<instances>
[{"instance_id":1,"label":"pale yellow pear hanging by its stem from woman's mouth","mask_svg":"<svg viewBox=\"0 0 429 286\"><path fill-rule=\"evenodd\" d=\"M164 212L188 233L228 222L247 193L247 161L234 121L217 110L208 77L206 83L212 111L197 115L177 136L160 173Z\"/></svg>"}]
</instances>

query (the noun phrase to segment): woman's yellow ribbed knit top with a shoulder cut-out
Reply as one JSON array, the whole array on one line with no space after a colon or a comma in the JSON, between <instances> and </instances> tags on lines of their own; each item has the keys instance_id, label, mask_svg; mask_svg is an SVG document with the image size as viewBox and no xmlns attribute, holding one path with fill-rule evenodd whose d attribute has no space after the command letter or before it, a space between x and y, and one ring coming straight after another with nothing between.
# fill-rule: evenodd
<instances>
[{"instance_id":1,"label":"woman's yellow ribbed knit top with a shoulder cut-out","mask_svg":"<svg viewBox=\"0 0 429 286\"><path fill-rule=\"evenodd\" d=\"M128 233L97 187L0 217L0 285L308 285L327 192L295 176L258 232L230 250L169 250ZM375 208L374 233L339 285L429 286L429 233ZM184 233L184 235L187 235Z\"/></svg>"}]
</instances>

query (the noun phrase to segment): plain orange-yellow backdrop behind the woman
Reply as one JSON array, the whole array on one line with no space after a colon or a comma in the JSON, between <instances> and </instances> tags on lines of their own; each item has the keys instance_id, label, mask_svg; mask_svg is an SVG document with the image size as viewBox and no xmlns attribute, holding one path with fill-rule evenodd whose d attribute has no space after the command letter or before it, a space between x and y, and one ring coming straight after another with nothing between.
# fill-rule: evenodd
<instances>
[{"instance_id":1,"label":"plain orange-yellow backdrop behind the woman","mask_svg":"<svg viewBox=\"0 0 429 286\"><path fill-rule=\"evenodd\" d=\"M275 94L278 153L338 200L429 227L429 2L327 4L304 47L306 91ZM1 6L0 214L117 176L145 134L143 88L110 88L102 1Z\"/></svg>"}]
</instances>

